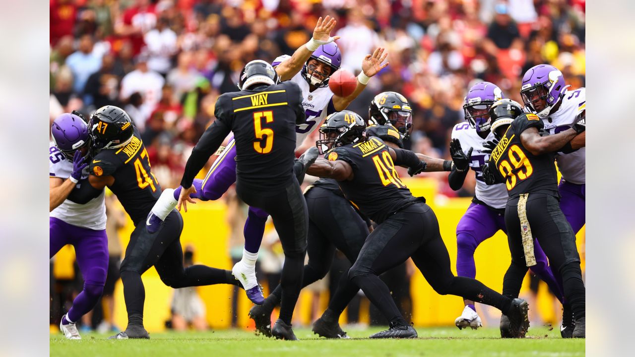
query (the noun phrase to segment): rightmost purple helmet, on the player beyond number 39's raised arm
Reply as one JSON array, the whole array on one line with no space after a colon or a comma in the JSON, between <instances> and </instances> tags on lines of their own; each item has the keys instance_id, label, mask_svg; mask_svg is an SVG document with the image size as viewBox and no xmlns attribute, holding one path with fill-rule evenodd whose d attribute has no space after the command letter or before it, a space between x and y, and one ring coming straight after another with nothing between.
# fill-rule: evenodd
<instances>
[{"instance_id":1,"label":"rightmost purple helmet, on the player beyond number 39's raised arm","mask_svg":"<svg viewBox=\"0 0 635 357\"><path fill-rule=\"evenodd\" d=\"M520 95L531 112L545 118L565 96L568 87L559 69L552 65L539 64L531 67L523 76Z\"/></svg>"}]
</instances>

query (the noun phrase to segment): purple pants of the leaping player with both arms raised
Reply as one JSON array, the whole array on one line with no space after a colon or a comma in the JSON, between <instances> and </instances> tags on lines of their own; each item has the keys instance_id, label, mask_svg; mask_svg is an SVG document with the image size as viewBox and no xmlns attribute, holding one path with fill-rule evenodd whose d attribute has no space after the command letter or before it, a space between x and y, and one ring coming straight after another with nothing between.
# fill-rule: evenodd
<instances>
[{"instance_id":1,"label":"purple pants of the leaping player with both arms raised","mask_svg":"<svg viewBox=\"0 0 635 357\"><path fill-rule=\"evenodd\" d=\"M232 136L225 150L211 165L210 172L207 173L205 179L194 180L193 185L196 187L196 193L191 194L190 197L198 198L201 201L215 201L221 198L234 182L236 182L236 142ZM178 192L175 191L175 198L178 198L180 189L178 187ZM267 217L269 217L269 213L264 210L256 207L249 208L243 231L244 248L247 252L258 253Z\"/></svg>"}]
</instances>

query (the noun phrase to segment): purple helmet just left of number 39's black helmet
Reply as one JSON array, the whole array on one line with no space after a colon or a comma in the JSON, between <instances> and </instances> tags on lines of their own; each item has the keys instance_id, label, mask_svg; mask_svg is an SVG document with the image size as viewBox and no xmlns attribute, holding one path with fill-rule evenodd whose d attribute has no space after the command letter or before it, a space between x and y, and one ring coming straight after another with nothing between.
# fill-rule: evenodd
<instances>
[{"instance_id":1,"label":"purple helmet just left of number 39's black helmet","mask_svg":"<svg viewBox=\"0 0 635 357\"><path fill-rule=\"evenodd\" d=\"M503 92L496 84L490 82L476 83L467 91L463 111L465 120L476 131L490 131L490 107L494 102L502 99Z\"/></svg>"}]
</instances>

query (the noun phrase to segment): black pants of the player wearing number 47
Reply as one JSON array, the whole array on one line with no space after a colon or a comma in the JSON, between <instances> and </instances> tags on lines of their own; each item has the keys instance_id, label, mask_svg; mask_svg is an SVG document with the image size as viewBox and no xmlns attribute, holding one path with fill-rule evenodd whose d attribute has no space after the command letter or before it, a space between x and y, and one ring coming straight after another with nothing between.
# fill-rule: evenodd
<instances>
[{"instance_id":1,"label":"black pants of the player wearing number 47","mask_svg":"<svg viewBox=\"0 0 635 357\"><path fill-rule=\"evenodd\" d=\"M154 266L161 281L173 288L213 284L240 286L231 271L196 265L183 266L183 249L180 236L183 218L177 210L166 217L159 231L150 234L145 222L138 222L130 234L126 257L121 262L121 282L128 311L128 326L143 326L145 289L141 275Z\"/></svg>"}]
</instances>

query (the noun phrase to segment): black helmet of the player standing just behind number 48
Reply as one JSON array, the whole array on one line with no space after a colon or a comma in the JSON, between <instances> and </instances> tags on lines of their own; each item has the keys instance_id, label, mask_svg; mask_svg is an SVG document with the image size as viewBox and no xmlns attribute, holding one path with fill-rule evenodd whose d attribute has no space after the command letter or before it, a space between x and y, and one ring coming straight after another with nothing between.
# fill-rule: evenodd
<instances>
[{"instance_id":1,"label":"black helmet of the player standing just behind number 48","mask_svg":"<svg viewBox=\"0 0 635 357\"><path fill-rule=\"evenodd\" d=\"M396 91L384 91L373 98L368 107L368 124L392 125L402 139L410 138L412 109L403 95Z\"/></svg>"}]
</instances>

